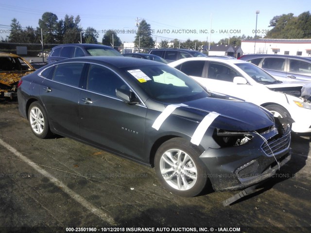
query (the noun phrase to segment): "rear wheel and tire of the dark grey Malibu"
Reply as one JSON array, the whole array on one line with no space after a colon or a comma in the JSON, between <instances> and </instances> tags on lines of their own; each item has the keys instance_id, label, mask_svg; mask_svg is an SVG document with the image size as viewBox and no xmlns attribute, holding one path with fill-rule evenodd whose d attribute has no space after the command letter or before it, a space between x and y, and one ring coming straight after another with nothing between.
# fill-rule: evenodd
<instances>
[{"instance_id":1,"label":"rear wheel and tire of the dark grey Malibu","mask_svg":"<svg viewBox=\"0 0 311 233\"><path fill-rule=\"evenodd\" d=\"M51 136L48 117L37 101L29 106L28 121L33 133L39 138L49 138Z\"/></svg>"}]
</instances>

